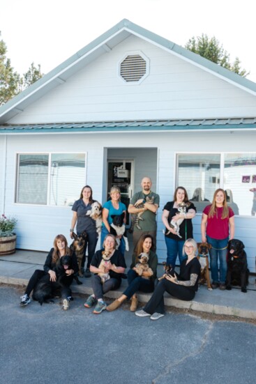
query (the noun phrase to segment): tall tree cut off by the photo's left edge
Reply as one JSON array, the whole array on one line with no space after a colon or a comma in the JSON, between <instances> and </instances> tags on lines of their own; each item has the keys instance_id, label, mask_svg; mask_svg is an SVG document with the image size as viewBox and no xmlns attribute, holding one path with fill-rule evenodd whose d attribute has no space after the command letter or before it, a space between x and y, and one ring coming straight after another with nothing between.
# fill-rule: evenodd
<instances>
[{"instance_id":1,"label":"tall tree cut off by the photo's left edge","mask_svg":"<svg viewBox=\"0 0 256 384\"><path fill-rule=\"evenodd\" d=\"M6 43L0 40L0 105L17 95L21 86L20 75L10 65L6 52Z\"/></svg>"}]
</instances>

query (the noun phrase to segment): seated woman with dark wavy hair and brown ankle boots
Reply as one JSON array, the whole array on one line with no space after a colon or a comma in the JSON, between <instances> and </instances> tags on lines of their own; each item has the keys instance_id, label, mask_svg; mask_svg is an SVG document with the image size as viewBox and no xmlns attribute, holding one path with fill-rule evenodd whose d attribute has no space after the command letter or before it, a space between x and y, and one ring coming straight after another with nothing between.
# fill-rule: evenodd
<instances>
[{"instance_id":1,"label":"seated woman with dark wavy hair and brown ankle boots","mask_svg":"<svg viewBox=\"0 0 256 384\"><path fill-rule=\"evenodd\" d=\"M130 311L135 312L137 309L137 291L142 291L145 293L153 292L155 287L156 280L156 268L158 265L158 256L151 251L153 248L153 237L151 235L144 234L140 237L140 240L137 243L137 247L135 248L135 253L133 254L133 261L130 266L130 270L128 271L128 287L120 296L120 298L114 300L112 304L107 306L107 311L114 311L118 307L120 307L121 303L130 298L132 298L132 303L130 305ZM138 262L138 256L142 254L142 252L146 253L149 256L148 265L149 268L153 271L143 271L142 275L139 275L139 270L136 268L136 264Z\"/></svg>"}]
</instances>

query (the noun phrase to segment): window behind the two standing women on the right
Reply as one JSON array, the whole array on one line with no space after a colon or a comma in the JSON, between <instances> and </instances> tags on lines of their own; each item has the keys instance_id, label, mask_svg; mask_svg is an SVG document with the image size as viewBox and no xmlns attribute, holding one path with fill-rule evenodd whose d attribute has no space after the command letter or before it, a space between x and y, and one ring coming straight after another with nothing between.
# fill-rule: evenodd
<instances>
[{"instance_id":1,"label":"window behind the two standing women on the right","mask_svg":"<svg viewBox=\"0 0 256 384\"><path fill-rule=\"evenodd\" d=\"M235 215L255 215L256 153L177 155L176 185L186 187L197 212L223 188ZM255 208L254 208L255 207Z\"/></svg>"}]
</instances>

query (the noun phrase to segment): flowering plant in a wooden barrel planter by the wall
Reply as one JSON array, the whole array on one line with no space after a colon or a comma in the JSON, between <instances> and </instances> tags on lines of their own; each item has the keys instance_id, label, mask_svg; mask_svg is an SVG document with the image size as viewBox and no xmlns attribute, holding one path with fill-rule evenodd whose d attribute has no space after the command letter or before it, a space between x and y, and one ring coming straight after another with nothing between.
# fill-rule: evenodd
<instances>
[{"instance_id":1,"label":"flowering plant in a wooden barrel planter by the wall","mask_svg":"<svg viewBox=\"0 0 256 384\"><path fill-rule=\"evenodd\" d=\"M0 217L0 255L14 254L16 247L16 233L14 232L17 219L15 217Z\"/></svg>"}]
</instances>

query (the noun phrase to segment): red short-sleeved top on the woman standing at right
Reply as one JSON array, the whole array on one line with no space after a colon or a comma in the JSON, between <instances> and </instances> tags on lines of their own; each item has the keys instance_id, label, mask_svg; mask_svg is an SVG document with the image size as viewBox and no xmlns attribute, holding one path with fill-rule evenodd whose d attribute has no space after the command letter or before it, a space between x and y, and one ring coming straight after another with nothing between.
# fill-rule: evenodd
<instances>
[{"instance_id":1,"label":"red short-sleeved top on the woman standing at right","mask_svg":"<svg viewBox=\"0 0 256 384\"><path fill-rule=\"evenodd\" d=\"M234 216L232 208L229 208L229 216L225 219L222 219L223 207L217 207L217 215L209 217L209 211L211 205L206 206L203 210L203 213L208 216L207 226L206 226L206 235L210 238L216 238L217 240L223 240L229 236L229 217Z\"/></svg>"}]
</instances>

